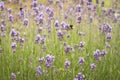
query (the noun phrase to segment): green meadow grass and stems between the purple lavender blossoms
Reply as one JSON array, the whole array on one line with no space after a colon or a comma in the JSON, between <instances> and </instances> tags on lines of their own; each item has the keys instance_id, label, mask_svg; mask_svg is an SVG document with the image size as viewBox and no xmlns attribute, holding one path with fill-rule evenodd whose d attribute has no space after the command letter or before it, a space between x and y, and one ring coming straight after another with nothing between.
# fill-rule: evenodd
<instances>
[{"instance_id":1,"label":"green meadow grass and stems between the purple lavender blossoms","mask_svg":"<svg viewBox=\"0 0 120 80\"><path fill-rule=\"evenodd\" d=\"M45 0L40 0L45 1ZM111 6L111 2L107 0L106 6ZM9 5L9 4L8 4ZM12 5L13 6L13 5ZM15 7L15 6L13 6ZM59 15L59 13L56 13ZM86 80L119 80L120 79L120 23L112 23L110 20L104 20L101 24L109 23L112 26L112 39L110 48L105 47L106 36L99 29L97 19L93 23L83 21L81 24L76 24L73 30L66 31L70 34L70 38L64 37L62 41L58 40L54 23L52 22L52 32L48 33L44 29L40 34L46 34L46 52L43 52L43 45L34 44L38 26L29 19L29 28L24 25L15 23L14 27L21 32L20 36L25 37L26 42L21 48L17 44L16 53L12 53L10 28L11 24L6 25L6 37L0 37L0 48L3 52L0 54L0 80L11 80L11 73L16 73L16 80L73 80L78 72L85 75ZM69 21L68 21L69 22ZM75 24L75 21L70 21ZM84 32L85 36L79 36L78 32ZM26 32L26 36L23 35ZM65 35L66 36L66 35ZM80 41L85 42L83 51L75 50L69 54L64 52L63 43L67 42L74 47L74 44L79 44ZM96 49L107 51L107 54L102 57L101 61L96 61L93 53ZM40 64L39 58L46 57L47 54L55 56L53 68L45 67L45 64ZM84 57L85 63L83 66L79 64L79 57ZM67 71L64 68L66 58L71 62L70 68ZM30 60L32 59L32 62ZM90 70L90 64L96 63L94 71ZM36 67L41 66L46 74L36 76ZM56 73L58 71L58 73Z\"/></svg>"}]
</instances>

